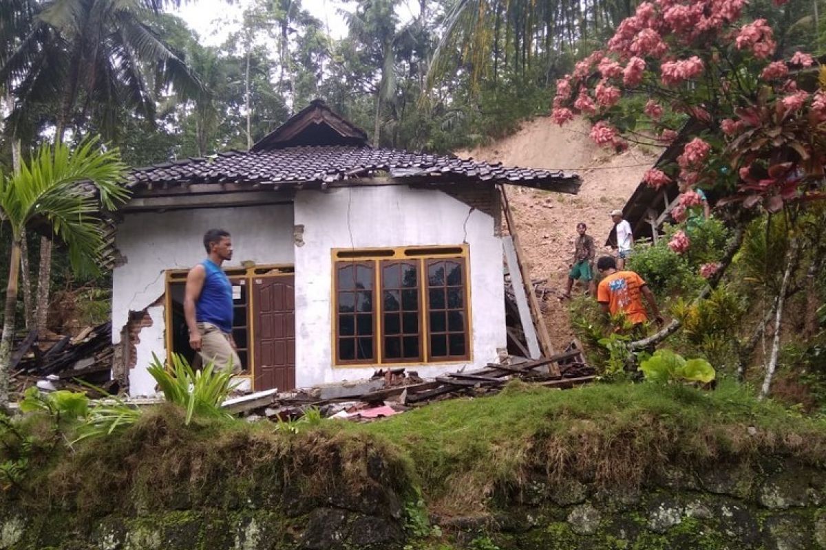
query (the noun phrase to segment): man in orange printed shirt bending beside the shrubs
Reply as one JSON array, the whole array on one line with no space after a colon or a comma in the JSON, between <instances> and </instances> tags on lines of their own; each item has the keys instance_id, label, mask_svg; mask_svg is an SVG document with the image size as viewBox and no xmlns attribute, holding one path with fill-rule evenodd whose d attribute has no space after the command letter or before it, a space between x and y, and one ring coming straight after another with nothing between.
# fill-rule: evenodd
<instances>
[{"instance_id":1,"label":"man in orange printed shirt bending beside the shrubs","mask_svg":"<svg viewBox=\"0 0 826 550\"><path fill-rule=\"evenodd\" d=\"M596 290L596 301L602 306L602 311L611 315L624 313L629 321L634 323L634 328L640 327L643 322L648 321L648 312L645 311L641 297L643 295L654 314L654 320L658 325L662 324L654 293L642 277L634 271L618 271L613 256L602 256L596 262L596 270L602 276Z\"/></svg>"}]
</instances>

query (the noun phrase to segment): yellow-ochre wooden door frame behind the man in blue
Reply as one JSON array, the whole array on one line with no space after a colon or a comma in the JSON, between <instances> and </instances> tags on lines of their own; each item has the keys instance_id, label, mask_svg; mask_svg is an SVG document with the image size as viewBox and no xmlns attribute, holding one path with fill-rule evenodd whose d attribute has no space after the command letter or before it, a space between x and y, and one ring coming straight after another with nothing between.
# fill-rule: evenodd
<instances>
[{"instance_id":1,"label":"yellow-ochre wooden door frame behind the man in blue","mask_svg":"<svg viewBox=\"0 0 826 550\"><path fill-rule=\"evenodd\" d=\"M171 269L166 270L165 273L165 281L164 281L164 346L166 346L166 364L167 368L171 368L172 365L172 354L173 354L173 333L172 333L172 296L169 293L169 284L170 283L183 283L187 280L187 275L189 270L192 267L187 269ZM249 389L253 392L257 391L255 389L255 345L254 345L254 337L257 333L257 322L255 322L255 315L254 315L254 296L252 291L252 280L253 279L262 279L262 278L269 278L269 277L284 277L288 275L295 275L295 265L294 264L263 264L263 265L252 265L252 266L238 266L238 267L226 267L224 270L227 277L230 280L239 280L243 279L244 286L246 287L248 294L248 306L247 306L247 327L249 327L249 332L247 334L247 349L248 349L248 356L249 356L249 374L236 374L233 378L248 378L249 379Z\"/></svg>"}]
</instances>

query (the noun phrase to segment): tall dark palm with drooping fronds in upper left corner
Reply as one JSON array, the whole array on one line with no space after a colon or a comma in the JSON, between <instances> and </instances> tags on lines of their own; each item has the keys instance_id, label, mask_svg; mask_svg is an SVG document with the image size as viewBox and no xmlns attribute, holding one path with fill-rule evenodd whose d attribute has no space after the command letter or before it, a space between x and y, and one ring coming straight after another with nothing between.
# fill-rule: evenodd
<instances>
[{"instance_id":1,"label":"tall dark palm with drooping fronds in upper left corner","mask_svg":"<svg viewBox=\"0 0 826 550\"><path fill-rule=\"evenodd\" d=\"M50 106L57 141L93 125L113 138L132 110L154 120L155 98L172 85L195 95L201 83L150 25L175 0L3 0L0 87L12 91L10 128ZM30 129L29 134L32 134ZM22 137L22 136L21 136ZM41 241L36 327L45 328L51 242Z\"/></svg>"}]
</instances>

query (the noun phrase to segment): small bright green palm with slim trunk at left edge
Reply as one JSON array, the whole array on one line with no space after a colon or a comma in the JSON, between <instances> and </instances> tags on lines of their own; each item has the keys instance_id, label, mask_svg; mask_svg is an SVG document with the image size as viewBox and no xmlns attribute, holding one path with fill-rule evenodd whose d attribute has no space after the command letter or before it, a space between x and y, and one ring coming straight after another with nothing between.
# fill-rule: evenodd
<instances>
[{"instance_id":1,"label":"small bright green palm with slim trunk at left edge","mask_svg":"<svg viewBox=\"0 0 826 550\"><path fill-rule=\"evenodd\" d=\"M0 220L12 232L6 308L0 340L0 406L8 402L8 366L12 355L20 273L21 239L26 226L45 223L69 249L75 270L94 272L102 251L101 209L126 200L119 185L126 165L117 149L102 151L97 139L84 140L74 153L64 143L40 148L31 162L21 162L12 176L0 174Z\"/></svg>"}]
</instances>

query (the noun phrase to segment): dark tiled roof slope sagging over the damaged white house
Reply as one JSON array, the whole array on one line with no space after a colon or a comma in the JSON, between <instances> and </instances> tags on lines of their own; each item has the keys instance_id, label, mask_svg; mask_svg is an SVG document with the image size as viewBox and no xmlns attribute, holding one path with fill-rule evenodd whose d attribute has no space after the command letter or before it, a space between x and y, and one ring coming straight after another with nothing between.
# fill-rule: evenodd
<instances>
[{"instance_id":1,"label":"dark tiled roof slope sagging over the damaged white house","mask_svg":"<svg viewBox=\"0 0 826 550\"><path fill-rule=\"evenodd\" d=\"M216 157L164 162L136 168L131 172L127 186L132 190L144 190L155 185L169 187L233 182L264 187L280 186L282 183L330 184L368 176L418 176L434 178L434 183L445 177L452 182L491 181L529 186L553 186L555 183L577 180L577 175L571 172L503 167L499 163L395 149L327 145L230 151ZM442 181L448 182L447 179ZM354 182L354 185L358 184Z\"/></svg>"}]
</instances>

